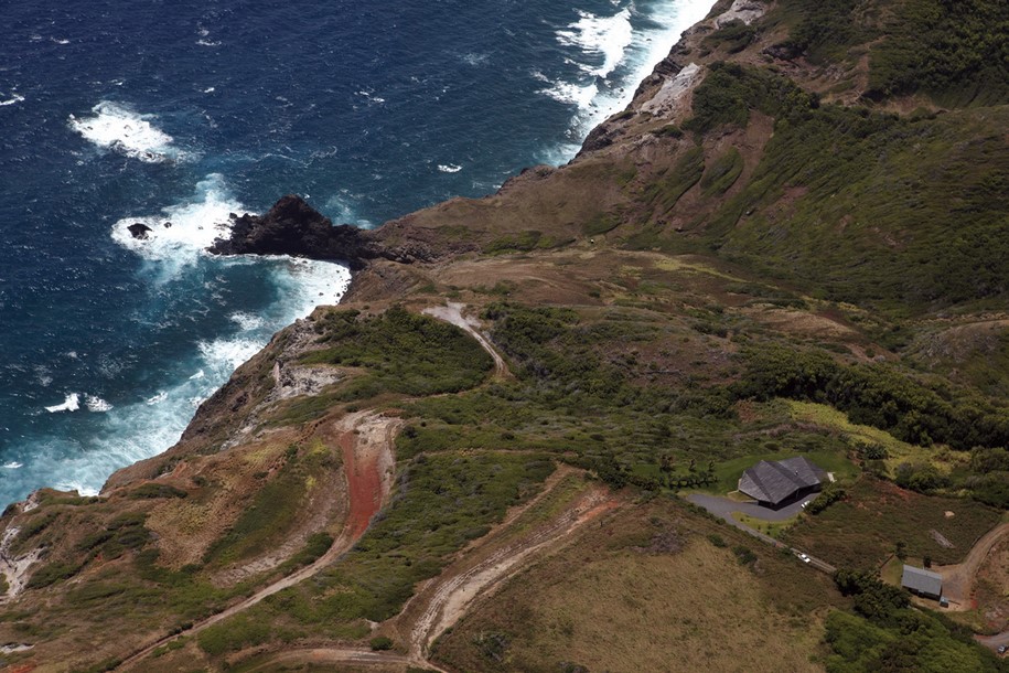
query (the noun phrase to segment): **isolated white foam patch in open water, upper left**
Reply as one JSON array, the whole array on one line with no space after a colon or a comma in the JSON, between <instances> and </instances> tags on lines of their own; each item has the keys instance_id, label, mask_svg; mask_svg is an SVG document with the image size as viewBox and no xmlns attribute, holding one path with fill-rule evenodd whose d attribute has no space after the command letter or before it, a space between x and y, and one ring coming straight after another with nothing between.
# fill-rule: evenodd
<instances>
[{"instance_id":1,"label":"isolated white foam patch in open water, upper left","mask_svg":"<svg viewBox=\"0 0 1009 673\"><path fill-rule=\"evenodd\" d=\"M92 108L93 117L69 116L69 126L86 140L127 157L158 163L183 157L172 147L172 137L155 128L151 115L140 115L121 105L103 100Z\"/></svg>"}]
</instances>

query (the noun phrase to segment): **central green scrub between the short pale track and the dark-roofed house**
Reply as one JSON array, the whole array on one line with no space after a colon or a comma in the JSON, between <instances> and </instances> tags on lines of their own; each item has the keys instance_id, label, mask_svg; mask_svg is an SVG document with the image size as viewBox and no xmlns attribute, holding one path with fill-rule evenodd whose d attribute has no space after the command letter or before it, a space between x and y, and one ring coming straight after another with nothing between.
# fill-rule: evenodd
<instances>
[{"instance_id":1,"label":"central green scrub between the short pale track and the dark-roofed house","mask_svg":"<svg viewBox=\"0 0 1009 673\"><path fill-rule=\"evenodd\" d=\"M590 320L505 302L490 305L484 317L516 380L406 405L412 418L397 441L400 457L460 446L546 450L614 485L646 489L715 483L719 463L740 456L818 451L844 461L838 436L740 432L728 387L684 389L656 377L654 357L683 340L663 322ZM765 423L786 419L781 409Z\"/></svg>"}]
</instances>

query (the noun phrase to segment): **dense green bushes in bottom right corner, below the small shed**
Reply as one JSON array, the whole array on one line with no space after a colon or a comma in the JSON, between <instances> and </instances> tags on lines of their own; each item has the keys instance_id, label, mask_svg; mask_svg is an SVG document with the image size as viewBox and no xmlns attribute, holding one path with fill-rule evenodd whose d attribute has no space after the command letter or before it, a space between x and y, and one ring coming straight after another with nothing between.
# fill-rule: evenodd
<instances>
[{"instance_id":1,"label":"dense green bushes in bottom right corner, below the small shed","mask_svg":"<svg viewBox=\"0 0 1009 673\"><path fill-rule=\"evenodd\" d=\"M969 629L933 612L912 610L908 595L874 575L838 570L838 589L855 599L858 615L827 618L829 673L922 671L996 673L1005 671L991 652L974 642Z\"/></svg>"}]
</instances>

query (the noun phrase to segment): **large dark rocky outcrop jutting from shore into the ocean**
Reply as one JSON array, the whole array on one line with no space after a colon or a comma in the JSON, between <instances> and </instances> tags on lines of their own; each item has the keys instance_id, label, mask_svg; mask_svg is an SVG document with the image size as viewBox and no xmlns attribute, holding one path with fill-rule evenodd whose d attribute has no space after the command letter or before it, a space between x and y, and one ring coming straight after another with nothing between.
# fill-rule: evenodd
<instances>
[{"instance_id":1,"label":"large dark rocky outcrop jutting from shore into the ocean","mask_svg":"<svg viewBox=\"0 0 1009 673\"><path fill-rule=\"evenodd\" d=\"M356 226L333 226L329 218L294 194L283 196L266 215L232 213L230 221L230 237L217 238L207 248L210 253L333 259L350 264L352 269L364 268L366 260L376 257L397 261L416 258L405 258L402 254L386 249Z\"/></svg>"}]
</instances>

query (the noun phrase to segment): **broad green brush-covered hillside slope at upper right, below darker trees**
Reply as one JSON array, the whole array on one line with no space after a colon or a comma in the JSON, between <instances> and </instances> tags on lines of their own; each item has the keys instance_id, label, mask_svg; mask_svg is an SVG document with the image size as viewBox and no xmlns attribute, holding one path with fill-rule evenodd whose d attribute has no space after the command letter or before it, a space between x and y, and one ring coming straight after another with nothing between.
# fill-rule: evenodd
<instances>
[{"instance_id":1,"label":"broad green brush-covered hillside slope at upper right, below darker trees","mask_svg":"<svg viewBox=\"0 0 1009 673\"><path fill-rule=\"evenodd\" d=\"M745 188L704 222L727 258L893 314L1009 293L1006 108L901 118L820 106L770 70L724 64L694 107L685 127L698 132L754 109L776 120Z\"/></svg>"}]
</instances>

